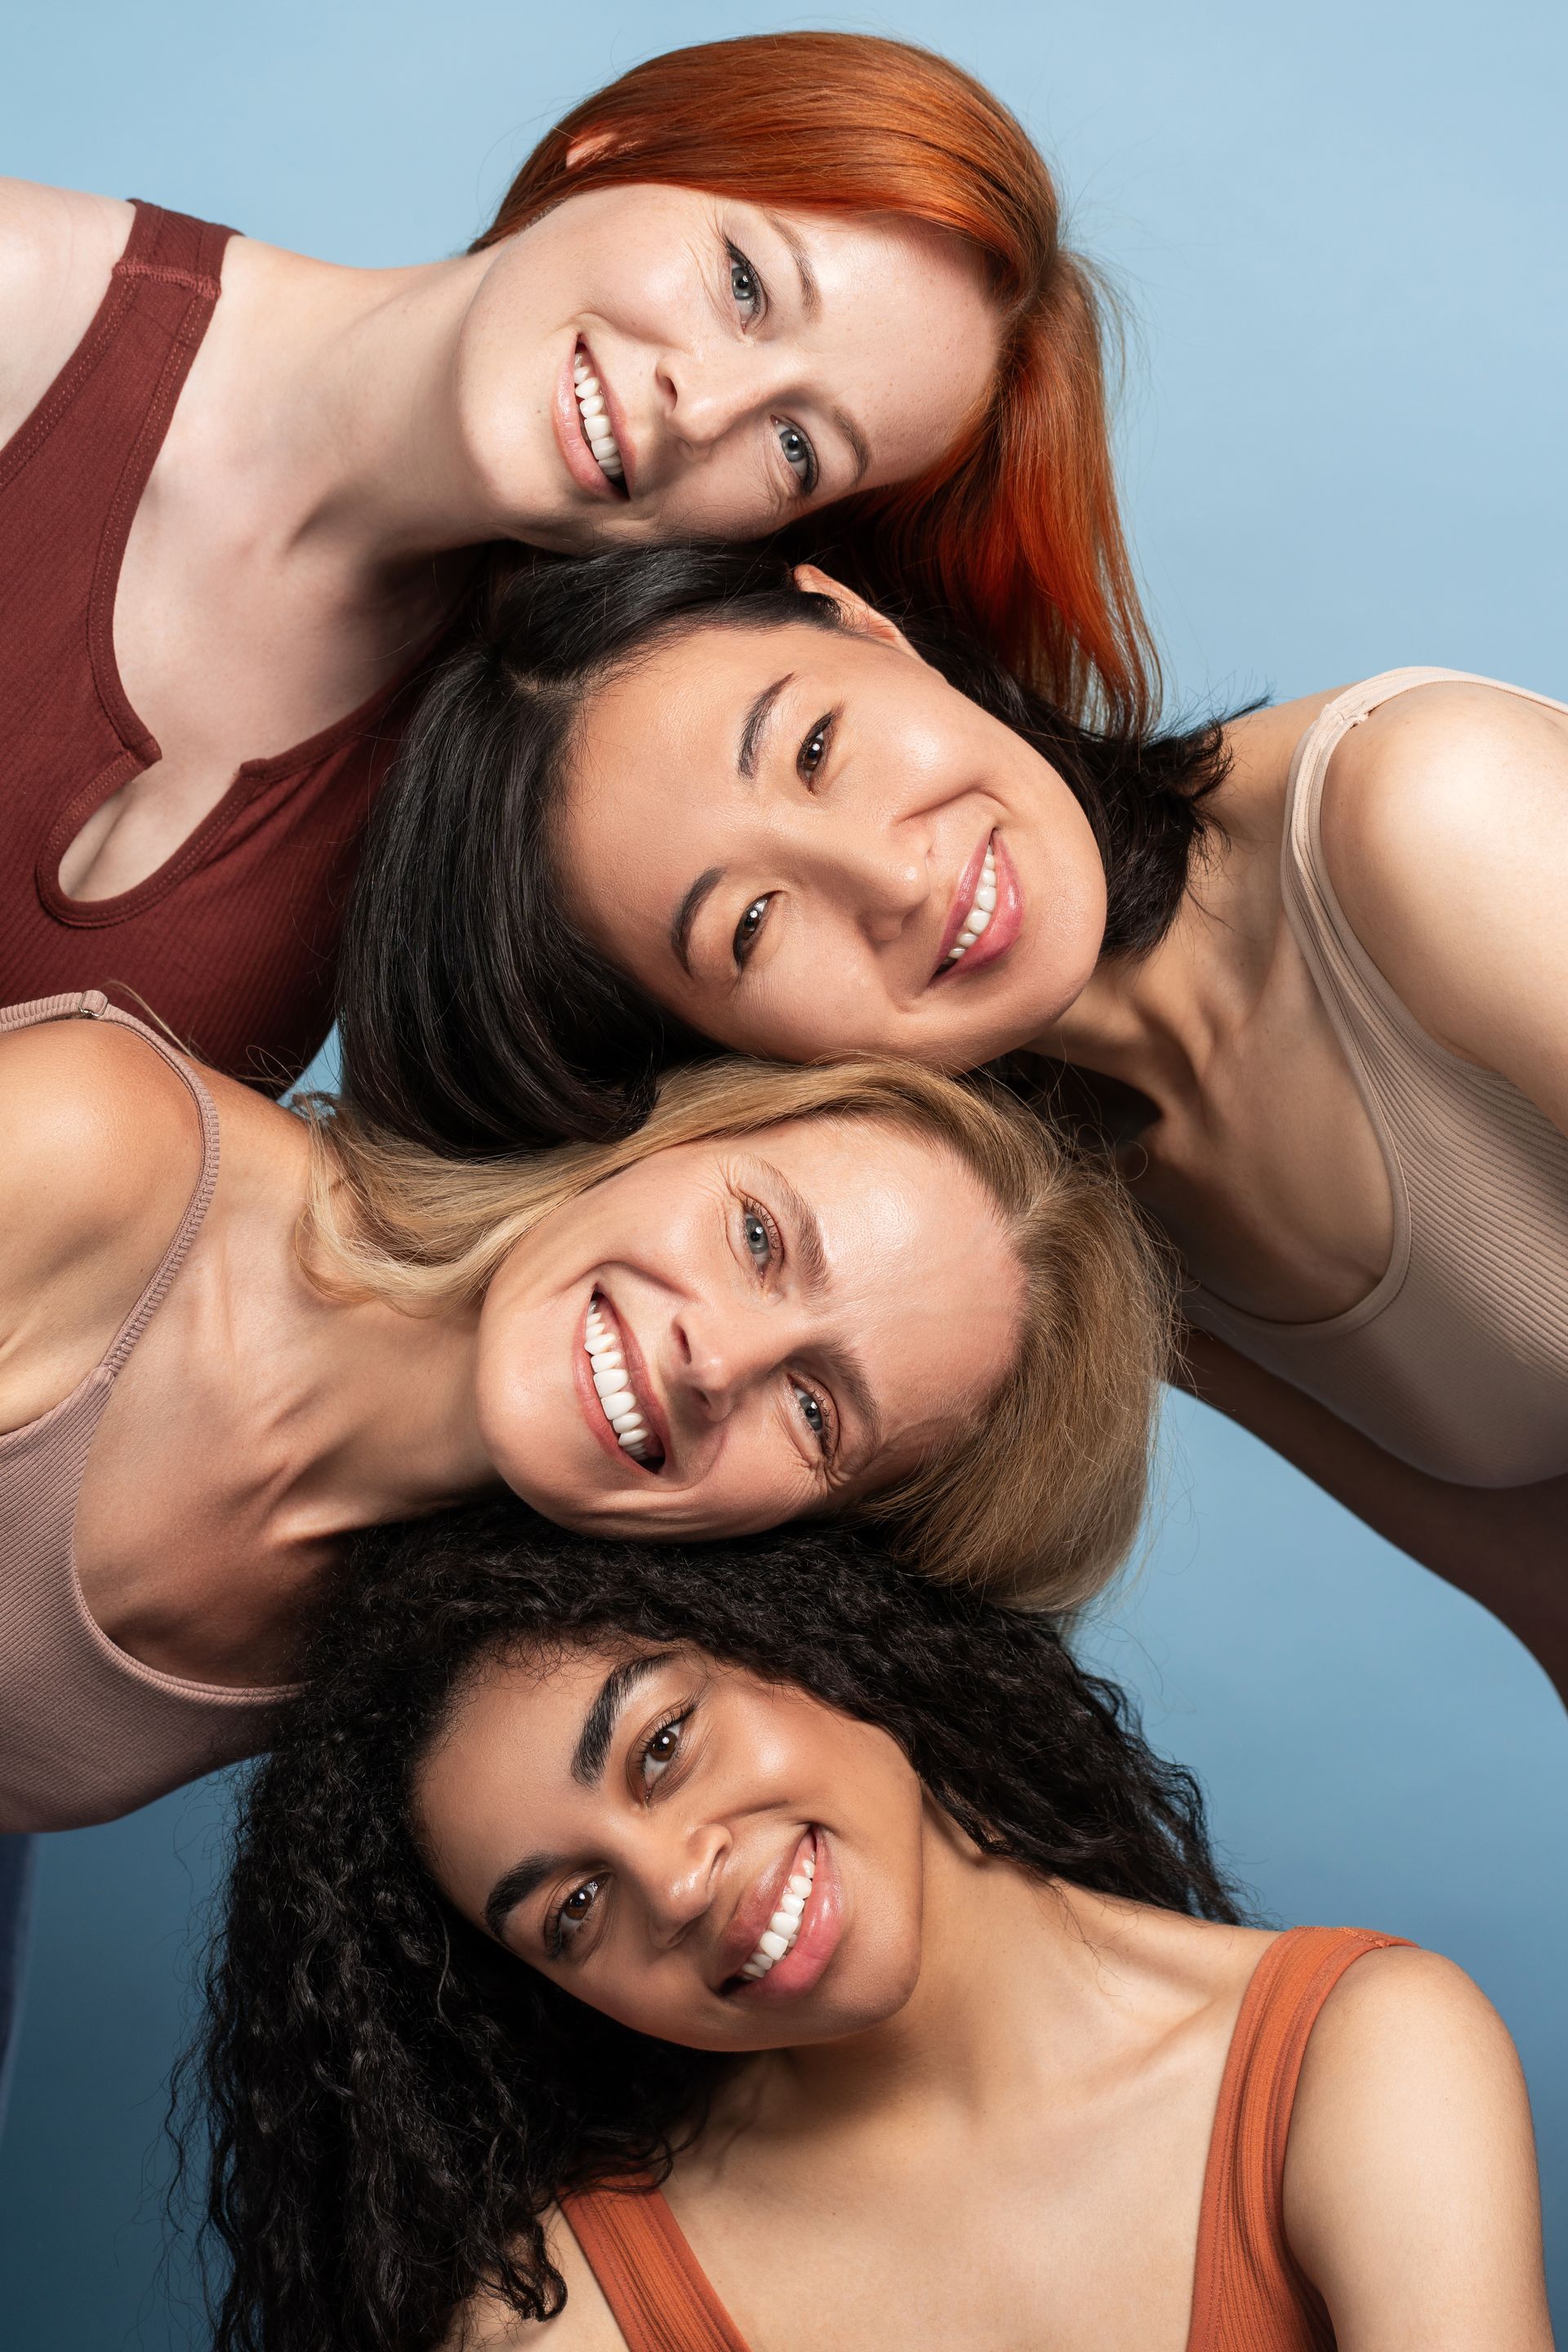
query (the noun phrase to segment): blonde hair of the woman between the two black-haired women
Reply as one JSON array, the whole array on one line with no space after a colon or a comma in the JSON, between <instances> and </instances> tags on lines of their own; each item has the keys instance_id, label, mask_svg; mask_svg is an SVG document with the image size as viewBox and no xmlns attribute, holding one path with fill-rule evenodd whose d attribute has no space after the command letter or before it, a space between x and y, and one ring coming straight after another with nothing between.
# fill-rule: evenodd
<instances>
[{"instance_id":1,"label":"blonde hair of the woman between the two black-haired women","mask_svg":"<svg viewBox=\"0 0 1568 2352\"><path fill-rule=\"evenodd\" d=\"M324 1289L440 1312L484 1296L564 1202L679 1143L783 1120L870 1120L978 1178L1023 1272L1013 1362L919 1470L851 1508L907 1566L987 1599L1070 1609L1121 1564L1143 1512L1171 1348L1171 1282L1114 1178L987 1082L856 1058L722 1058L663 1080L637 1134L454 1162L315 1101L301 1258Z\"/></svg>"}]
</instances>

